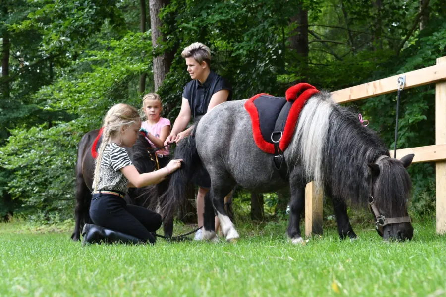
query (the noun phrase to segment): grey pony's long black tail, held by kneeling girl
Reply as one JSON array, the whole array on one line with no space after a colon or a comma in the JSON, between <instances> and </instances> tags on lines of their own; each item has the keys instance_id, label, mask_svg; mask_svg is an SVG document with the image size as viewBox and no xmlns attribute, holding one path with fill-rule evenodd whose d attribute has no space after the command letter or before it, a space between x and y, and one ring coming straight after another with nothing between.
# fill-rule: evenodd
<instances>
[{"instance_id":1,"label":"grey pony's long black tail, held by kneeling girl","mask_svg":"<svg viewBox=\"0 0 446 297\"><path fill-rule=\"evenodd\" d=\"M183 162L181 168L170 175L167 191L160 198L160 211L163 218L172 217L177 207L187 201L186 186L203 166L195 144L196 128L197 123L192 134L182 139L175 148L175 159L182 159Z\"/></svg>"}]
</instances>

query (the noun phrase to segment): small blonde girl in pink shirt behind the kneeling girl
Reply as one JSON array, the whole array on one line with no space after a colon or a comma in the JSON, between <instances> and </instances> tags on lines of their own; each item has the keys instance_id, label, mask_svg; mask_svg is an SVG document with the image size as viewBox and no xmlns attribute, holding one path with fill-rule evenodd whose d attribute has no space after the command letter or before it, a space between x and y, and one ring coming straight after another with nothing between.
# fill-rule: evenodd
<instances>
[{"instance_id":1,"label":"small blonde girl in pink shirt behind the kneeling girl","mask_svg":"<svg viewBox=\"0 0 446 297\"><path fill-rule=\"evenodd\" d=\"M167 136L170 134L170 121L161 117L163 106L160 95L149 93L143 97L143 106L141 108L143 120L141 128L147 131L146 139L152 148L162 148L156 152L160 168L167 165L170 160L169 149L163 148Z\"/></svg>"}]
</instances>

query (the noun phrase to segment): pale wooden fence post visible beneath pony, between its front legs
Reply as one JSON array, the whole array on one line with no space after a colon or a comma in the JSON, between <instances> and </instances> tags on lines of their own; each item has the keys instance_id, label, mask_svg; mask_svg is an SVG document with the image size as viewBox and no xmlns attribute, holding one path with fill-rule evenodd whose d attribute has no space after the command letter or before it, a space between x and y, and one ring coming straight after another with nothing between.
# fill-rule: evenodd
<instances>
[{"instance_id":1,"label":"pale wooden fence post visible beneath pony, between its front legs","mask_svg":"<svg viewBox=\"0 0 446 297\"><path fill-rule=\"evenodd\" d=\"M305 236L322 234L323 193L319 192L315 191L313 182L305 187Z\"/></svg>"}]
</instances>

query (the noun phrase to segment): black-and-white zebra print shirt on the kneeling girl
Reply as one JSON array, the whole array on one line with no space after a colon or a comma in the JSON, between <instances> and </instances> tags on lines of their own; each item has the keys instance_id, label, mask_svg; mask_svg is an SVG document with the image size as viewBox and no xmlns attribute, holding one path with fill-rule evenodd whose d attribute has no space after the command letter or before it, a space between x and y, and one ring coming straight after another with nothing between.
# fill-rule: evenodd
<instances>
[{"instance_id":1,"label":"black-and-white zebra print shirt on the kneeling girl","mask_svg":"<svg viewBox=\"0 0 446 297\"><path fill-rule=\"evenodd\" d=\"M127 191L128 179L121 168L133 165L125 148L115 143L108 143L102 154L100 176L97 190Z\"/></svg>"}]
</instances>

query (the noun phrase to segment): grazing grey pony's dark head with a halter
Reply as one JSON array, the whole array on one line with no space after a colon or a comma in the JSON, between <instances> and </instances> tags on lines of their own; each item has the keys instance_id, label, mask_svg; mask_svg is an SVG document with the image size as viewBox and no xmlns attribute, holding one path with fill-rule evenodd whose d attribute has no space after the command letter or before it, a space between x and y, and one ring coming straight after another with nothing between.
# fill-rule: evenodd
<instances>
[{"instance_id":1,"label":"grazing grey pony's dark head with a halter","mask_svg":"<svg viewBox=\"0 0 446 297\"><path fill-rule=\"evenodd\" d=\"M401 160L387 156L368 164L369 208L376 221L376 229L384 240L410 240L413 227L407 212L407 200L412 184L406 168L414 155Z\"/></svg>"}]
</instances>

